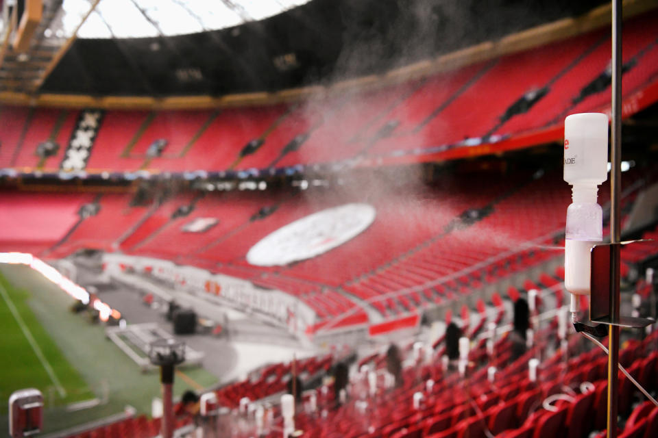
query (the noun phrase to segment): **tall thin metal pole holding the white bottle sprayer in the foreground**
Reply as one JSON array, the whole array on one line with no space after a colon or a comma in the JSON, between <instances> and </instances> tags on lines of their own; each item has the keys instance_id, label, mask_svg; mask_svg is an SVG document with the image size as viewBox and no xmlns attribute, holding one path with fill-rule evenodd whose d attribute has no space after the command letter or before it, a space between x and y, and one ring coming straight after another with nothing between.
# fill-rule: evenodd
<instances>
[{"instance_id":1,"label":"tall thin metal pole holding the white bottle sprayer in the foreground","mask_svg":"<svg viewBox=\"0 0 658 438\"><path fill-rule=\"evenodd\" d=\"M620 163L622 152L622 0L612 0L612 124L610 145L610 242L620 242L621 193ZM607 433L617 437L617 413L619 397L619 302L620 302L620 253L619 245L611 246L610 272L610 322L608 337L608 404Z\"/></svg>"}]
</instances>

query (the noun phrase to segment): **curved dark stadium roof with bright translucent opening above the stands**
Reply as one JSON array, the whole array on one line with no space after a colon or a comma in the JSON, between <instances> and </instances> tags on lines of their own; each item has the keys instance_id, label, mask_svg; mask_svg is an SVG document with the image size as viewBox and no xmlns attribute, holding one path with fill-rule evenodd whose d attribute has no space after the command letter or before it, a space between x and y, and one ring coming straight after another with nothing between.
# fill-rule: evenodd
<instances>
[{"instance_id":1,"label":"curved dark stadium roof with bright translucent opening above the stands","mask_svg":"<svg viewBox=\"0 0 658 438\"><path fill-rule=\"evenodd\" d=\"M29 50L4 2L0 92L223 96L384 73L605 0L42 0ZM15 4L15 3L14 3ZM27 5L27 3L25 3ZM21 8L19 2L19 9Z\"/></svg>"}]
</instances>

